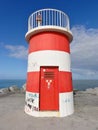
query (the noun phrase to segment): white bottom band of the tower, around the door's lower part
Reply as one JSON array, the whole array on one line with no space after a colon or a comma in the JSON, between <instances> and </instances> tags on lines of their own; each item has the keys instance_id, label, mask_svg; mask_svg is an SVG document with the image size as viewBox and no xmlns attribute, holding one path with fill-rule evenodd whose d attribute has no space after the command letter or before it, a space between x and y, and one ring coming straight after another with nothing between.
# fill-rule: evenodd
<instances>
[{"instance_id":1,"label":"white bottom band of the tower, around the door's lower part","mask_svg":"<svg viewBox=\"0 0 98 130\"><path fill-rule=\"evenodd\" d=\"M25 113L35 117L66 117L74 112L73 92L59 93L59 111L40 111L39 93L26 92Z\"/></svg>"}]
</instances>

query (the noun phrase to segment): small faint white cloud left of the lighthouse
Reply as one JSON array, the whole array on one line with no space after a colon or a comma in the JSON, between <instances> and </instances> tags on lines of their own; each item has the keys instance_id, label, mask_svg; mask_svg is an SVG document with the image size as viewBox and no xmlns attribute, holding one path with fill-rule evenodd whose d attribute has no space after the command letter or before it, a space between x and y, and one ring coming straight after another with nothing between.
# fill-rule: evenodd
<instances>
[{"instance_id":1,"label":"small faint white cloud left of the lighthouse","mask_svg":"<svg viewBox=\"0 0 98 130\"><path fill-rule=\"evenodd\" d=\"M5 45L5 48L9 50L8 55L10 57L15 57L19 59L27 59L28 50L25 46Z\"/></svg>"}]
</instances>

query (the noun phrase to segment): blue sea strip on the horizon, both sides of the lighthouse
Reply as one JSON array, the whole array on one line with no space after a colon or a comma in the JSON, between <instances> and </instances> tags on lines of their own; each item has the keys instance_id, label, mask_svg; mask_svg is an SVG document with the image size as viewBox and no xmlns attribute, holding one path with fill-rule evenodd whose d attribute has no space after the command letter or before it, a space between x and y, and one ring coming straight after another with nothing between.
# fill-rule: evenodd
<instances>
[{"instance_id":1,"label":"blue sea strip on the horizon, both sides of the lighthouse","mask_svg":"<svg viewBox=\"0 0 98 130\"><path fill-rule=\"evenodd\" d=\"M25 79L0 79L0 89L13 85L21 88L25 83ZM98 87L98 80L73 80L73 88L77 90L86 90L87 88L95 87Z\"/></svg>"}]
</instances>

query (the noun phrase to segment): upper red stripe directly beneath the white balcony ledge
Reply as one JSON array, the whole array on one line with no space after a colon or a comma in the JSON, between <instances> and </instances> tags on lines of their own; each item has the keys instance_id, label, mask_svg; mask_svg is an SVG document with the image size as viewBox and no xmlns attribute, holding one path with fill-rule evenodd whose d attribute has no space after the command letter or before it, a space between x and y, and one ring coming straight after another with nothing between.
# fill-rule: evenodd
<instances>
[{"instance_id":1,"label":"upper red stripe directly beneath the white balcony ledge","mask_svg":"<svg viewBox=\"0 0 98 130\"><path fill-rule=\"evenodd\" d=\"M70 53L68 38L57 32L42 32L30 38L29 53L41 50L58 50Z\"/></svg>"}]
</instances>

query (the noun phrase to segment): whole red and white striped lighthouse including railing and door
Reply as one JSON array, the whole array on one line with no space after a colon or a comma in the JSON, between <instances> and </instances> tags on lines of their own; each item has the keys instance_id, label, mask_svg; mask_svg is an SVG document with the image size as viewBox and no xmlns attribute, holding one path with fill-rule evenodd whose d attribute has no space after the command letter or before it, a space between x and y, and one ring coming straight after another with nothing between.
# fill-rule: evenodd
<instances>
[{"instance_id":1,"label":"whole red and white striped lighthouse including railing and door","mask_svg":"<svg viewBox=\"0 0 98 130\"><path fill-rule=\"evenodd\" d=\"M25 112L36 117L71 115L73 87L68 16L42 9L28 19L29 43Z\"/></svg>"}]
</instances>

